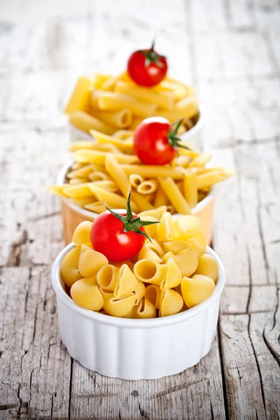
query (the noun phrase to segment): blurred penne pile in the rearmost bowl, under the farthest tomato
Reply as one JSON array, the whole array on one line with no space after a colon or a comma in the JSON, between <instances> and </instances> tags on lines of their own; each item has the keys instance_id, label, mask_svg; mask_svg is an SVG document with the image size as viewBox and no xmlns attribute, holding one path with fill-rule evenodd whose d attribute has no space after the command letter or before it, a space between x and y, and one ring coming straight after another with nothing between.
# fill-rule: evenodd
<instances>
[{"instance_id":1,"label":"blurred penne pile in the rearmost bowl, under the farthest tomato","mask_svg":"<svg viewBox=\"0 0 280 420\"><path fill-rule=\"evenodd\" d=\"M104 134L134 130L149 116L162 116L172 123L184 118L182 134L199 118L193 87L169 77L155 87L141 87L127 72L119 76L96 73L92 79L80 77L64 113L78 129Z\"/></svg>"}]
</instances>

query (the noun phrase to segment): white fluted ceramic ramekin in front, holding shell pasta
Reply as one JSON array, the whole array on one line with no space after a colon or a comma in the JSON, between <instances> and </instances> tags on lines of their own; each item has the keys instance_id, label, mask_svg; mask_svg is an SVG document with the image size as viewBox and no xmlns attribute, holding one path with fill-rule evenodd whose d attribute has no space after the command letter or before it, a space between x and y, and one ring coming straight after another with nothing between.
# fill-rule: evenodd
<instances>
[{"instance_id":1,"label":"white fluted ceramic ramekin in front, holding shell pasta","mask_svg":"<svg viewBox=\"0 0 280 420\"><path fill-rule=\"evenodd\" d=\"M89 370L120 379L158 379L196 365L209 353L216 333L225 271L218 255L216 290L207 300L179 314L153 319L116 318L79 307L64 290L59 267L73 244L57 256L52 286L62 342L70 356Z\"/></svg>"}]
</instances>

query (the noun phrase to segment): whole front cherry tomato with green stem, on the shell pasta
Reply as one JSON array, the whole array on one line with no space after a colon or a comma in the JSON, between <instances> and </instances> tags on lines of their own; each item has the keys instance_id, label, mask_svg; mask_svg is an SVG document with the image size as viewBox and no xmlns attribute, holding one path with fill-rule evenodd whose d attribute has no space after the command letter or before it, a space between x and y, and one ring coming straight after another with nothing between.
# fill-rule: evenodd
<instances>
[{"instance_id":1,"label":"whole front cherry tomato with green stem, on the shell pasta","mask_svg":"<svg viewBox=\"0 0 280 420\"><path fill-rule=\"evenodd\" d=\"M94 250L104 254L109 261L130 260L141 251L145 239L148 238L143 226L154 223L158 222L141 221L132 213L129 195L127 211L115 212L108 209L99 214L92 223L90 241Z\"/></svg>"}]
</instances>

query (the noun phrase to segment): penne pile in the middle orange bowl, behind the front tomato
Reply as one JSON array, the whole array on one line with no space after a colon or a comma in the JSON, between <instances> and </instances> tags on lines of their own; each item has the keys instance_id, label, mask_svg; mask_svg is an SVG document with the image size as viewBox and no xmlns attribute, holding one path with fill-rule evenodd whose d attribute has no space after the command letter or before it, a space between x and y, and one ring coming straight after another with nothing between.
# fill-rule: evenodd
<instances>
[{"instance_id":1,"label":"penne pile in the middle orange bowl, behind the front tomato","mask_svg":"<svg viewBox=\"0 0 280 420\"><path fill-rule=\"evenodd\" d=\"M233 175L223 167L206 167L211 155L184 148L170 165L144 165L134 155L133 132L91 133L95 142L69 148L75 161L66 175L69 183L48 189L95 213L125 208L132 190L135 213L167 206L172 214L191 214L215 183Z\"/></svg>"}]
</instances>

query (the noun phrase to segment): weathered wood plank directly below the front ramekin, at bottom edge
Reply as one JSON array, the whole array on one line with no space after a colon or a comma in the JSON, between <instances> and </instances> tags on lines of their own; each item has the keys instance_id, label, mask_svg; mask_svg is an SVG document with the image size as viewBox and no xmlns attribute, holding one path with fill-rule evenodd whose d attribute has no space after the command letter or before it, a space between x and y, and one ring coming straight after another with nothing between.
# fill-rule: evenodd
<instances>
[{"instance_id":1,"label":"weathered wood plank directly below the front ramekin, at bottom edge","mask_svg":"<svg viewBox=\"0 0 280 420\"><path fill-rule=\"evenodd\" d=\"M182 418L225 419L217 339L197 366L155 381L112 380L73 363L71 419Z\"/></svg>"}]
</instances>

